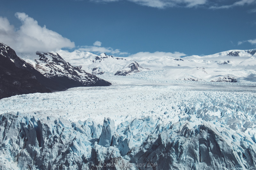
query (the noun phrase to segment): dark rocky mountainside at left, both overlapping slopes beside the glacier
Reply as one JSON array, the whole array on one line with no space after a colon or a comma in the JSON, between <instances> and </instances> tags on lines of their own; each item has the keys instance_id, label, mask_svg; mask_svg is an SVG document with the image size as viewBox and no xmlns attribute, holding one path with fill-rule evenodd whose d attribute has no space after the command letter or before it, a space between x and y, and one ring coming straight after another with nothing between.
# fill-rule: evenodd
<instances>
[{"instance_id":1,"label":"dark rocky mountainside at left, both overlapping slopes beside the glacier","mask_svg":"<svg viewBox=\"0 0 256 170\"><path fill-rule=\"evenodd\" d=\"M71 87L111 85L80 67L71 66L58 54L37 53L39 59L34 68L33 64L19 58L9 46L0 43L0 50L0 99L34 92L61 91ZM47 55L52 56L52 62L49 62Z\"/></svg>"}]
</instances>

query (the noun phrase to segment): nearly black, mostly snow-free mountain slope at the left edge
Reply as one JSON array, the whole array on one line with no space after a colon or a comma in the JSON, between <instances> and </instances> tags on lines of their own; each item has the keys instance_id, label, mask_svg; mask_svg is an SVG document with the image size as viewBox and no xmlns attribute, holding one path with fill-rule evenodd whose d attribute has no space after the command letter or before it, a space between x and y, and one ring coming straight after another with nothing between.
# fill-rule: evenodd
<instances>
[{"instance_id":1,"label":"nearly black, mostly snow-free mountain slope at the left edge","mask_svg":"<svg viewBox=\"0 0 256 170\"><path fill-rule=\"evenodd\" d=\"M18 94L51 92L39 82L43 75L20 59L12 48L0 43L0 50L0 99Z\"/></svg>"}]
</instances>

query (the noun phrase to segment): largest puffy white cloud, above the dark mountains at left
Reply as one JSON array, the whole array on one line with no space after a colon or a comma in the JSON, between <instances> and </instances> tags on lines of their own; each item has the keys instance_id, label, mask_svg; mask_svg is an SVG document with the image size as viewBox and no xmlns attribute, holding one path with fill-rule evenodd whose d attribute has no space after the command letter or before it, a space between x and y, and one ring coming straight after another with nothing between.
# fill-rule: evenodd
<instances>
[{"instance_id":1,"label":"largest puffy white cloud, above the dark mountains at left","mask_svg":"<svg viewBox=\"0 0 256 170\"><path fill-rule=\"evenodd\" d=\"M27 14L17 12L15 16L22 23L19 29L12 26L7 18L0 17L0 40L16 52L49 52L75 47L74 42L47 29L46 26L39 26L37 21Z\"/></svg>"}]
</instances>

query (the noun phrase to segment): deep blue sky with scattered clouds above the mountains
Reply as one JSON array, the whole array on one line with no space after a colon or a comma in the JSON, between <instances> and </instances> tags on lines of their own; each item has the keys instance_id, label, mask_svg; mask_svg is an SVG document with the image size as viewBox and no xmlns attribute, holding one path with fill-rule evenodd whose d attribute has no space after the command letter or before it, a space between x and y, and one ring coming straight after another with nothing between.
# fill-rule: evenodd
<instances>
[{"instance_id":1,"label":"deep blue sky with scattered clouds above the mountains","mask_svg":"<svg viewBox=\"0 0 256 170\"><path fill-rule=\"evenodd\" d=\"M209 55L256 48L256 0L12 0L1 2L0 16L0 41L18 52Z\"/></svg>"}]
</instances>

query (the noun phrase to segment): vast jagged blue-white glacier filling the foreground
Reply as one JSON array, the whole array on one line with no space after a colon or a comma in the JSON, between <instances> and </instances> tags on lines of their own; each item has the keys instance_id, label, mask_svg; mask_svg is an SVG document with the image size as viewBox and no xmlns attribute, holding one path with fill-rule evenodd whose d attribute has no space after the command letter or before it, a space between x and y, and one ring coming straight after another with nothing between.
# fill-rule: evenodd
<instances>
[{"instance_id":1,"label":"vast jagged blue-white glacier filling the foreground","mask_svg":"<svg viewBox=\"0 0 256 170\"><path fill-rule=\"evenodd\" d=\"M0 100L0 169L256 169L254 81L146 73Z\"/></svg>"}]
</instances>

